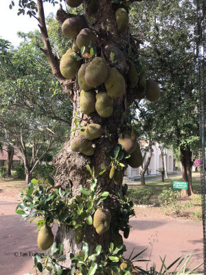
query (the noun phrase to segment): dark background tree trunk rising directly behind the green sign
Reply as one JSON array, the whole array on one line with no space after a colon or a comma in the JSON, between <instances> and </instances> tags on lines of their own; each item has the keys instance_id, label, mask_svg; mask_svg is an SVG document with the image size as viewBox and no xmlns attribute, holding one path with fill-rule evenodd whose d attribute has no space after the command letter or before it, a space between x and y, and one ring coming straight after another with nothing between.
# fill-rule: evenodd
<instances>
[{"instance_id":1,"label":"dark background tree trunk rising directly behind the green sign","mask_svg":"<svg viewBox=\"0 0 206 275\"><path fill-rule=\"evenodd\" d=\"M192 190L192 151L190 148L180 148L183 181L188 182L188 190L182 189L181 196L194 195Z\"/></svg>"}]
</instances>

